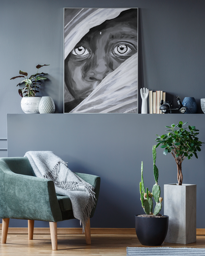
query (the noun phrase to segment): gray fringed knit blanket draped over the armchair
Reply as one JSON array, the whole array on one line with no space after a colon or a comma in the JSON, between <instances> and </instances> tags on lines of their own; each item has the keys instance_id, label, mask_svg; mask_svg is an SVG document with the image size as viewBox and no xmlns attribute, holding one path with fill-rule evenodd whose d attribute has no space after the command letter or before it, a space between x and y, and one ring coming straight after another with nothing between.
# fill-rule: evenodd
<instances>
[{"instance_id":1,"label":"gray fringed knit blanket draped over the armchair","mask_svg":"<svg viewBox=\"0 0 205 256\"><path fill-rule=\"evenodd\" d=\"M56 193L70 198L73 215L82 222L83 232L95 205L94 187L68 169L67 163L51 151L25 154L36 177L54 182Z\"/></svg>"}]
</instances>

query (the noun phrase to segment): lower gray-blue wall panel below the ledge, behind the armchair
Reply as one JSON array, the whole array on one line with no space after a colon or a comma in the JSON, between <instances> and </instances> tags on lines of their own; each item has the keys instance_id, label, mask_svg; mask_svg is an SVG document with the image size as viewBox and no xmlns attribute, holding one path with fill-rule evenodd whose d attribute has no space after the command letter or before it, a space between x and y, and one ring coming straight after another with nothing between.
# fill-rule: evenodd
<instances>
[{"instance_id":1,"label":"lower gray-blue wall panel below the ledge, behind the armchair","mask_svg":"<svg viewBox=\"0 0 205 256\"><path fill-rule=\"evenodd\" d=\"M141 161L145 186L151 189L156 134L166 133L165 125L180 120L195 125L205 142L202 114L8 114L8 156L52 150L72 171L100 176L99 205L91 226L134 227L134 215L143 212L139 200ZM183 183L196 183L198 195L204 191L204 150L203 145L199 159L186 159L182 164ZM177 169L173 157L162 152L157 149L156 165L163 196L164 184L177 182ZM197 225L204 228L205 207L200 196L197 200ZM60 225L75 226L76 221Z\"/></svg>"}]
</instances>

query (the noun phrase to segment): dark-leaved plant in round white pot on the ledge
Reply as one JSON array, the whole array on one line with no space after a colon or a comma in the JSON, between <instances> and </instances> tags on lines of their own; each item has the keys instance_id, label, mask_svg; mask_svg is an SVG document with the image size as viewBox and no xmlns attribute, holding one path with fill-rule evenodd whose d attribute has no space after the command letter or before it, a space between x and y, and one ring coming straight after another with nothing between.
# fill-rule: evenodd
<instances>
[{"instance_id":1,"label":"dark-leaved plant in round white pot on the ledge","mask_svg":"<svg viewBox=\"0 0 205 256\"><path fill-rule=\"evenodd\" d=\"M39 85L42 85L41 81L48 79L47 77L43 76L46 73L38 73L38 70L43 66L49 66L48 64L40 65L38 64L36 66L37 72L35 74L32 74L30 77L28 77L27 72L19 71L18 76L14 76L10 78L16 79L18 77L24 77L24 79L17 84L22 85L25 84L25 87L23 89L19 89L19 95L22 97L21 100L21 108L25 113L39 113L38 111L38 105L40 102L41 97L36 97L36 93L38 93Z\"/></svg>"}]
</instances>

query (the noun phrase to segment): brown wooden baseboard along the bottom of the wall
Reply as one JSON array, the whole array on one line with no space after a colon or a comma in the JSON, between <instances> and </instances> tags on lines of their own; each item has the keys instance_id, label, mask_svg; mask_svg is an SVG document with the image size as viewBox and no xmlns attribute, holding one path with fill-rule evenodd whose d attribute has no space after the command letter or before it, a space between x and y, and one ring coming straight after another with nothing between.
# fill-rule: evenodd
<instances>
[{"instance_id":1,"label":"brown wooden baseboard along the bottom of the wall","mask_svg":"<svg viewBox=\"0 0 205 256\"><path fill-rule=\"evenodd\" d=\"M0 223L0 230L2 224ZM8 234L28 234L27 227L9 227ZM34 227L34 234L50 234L49 227ZM81 234L82 228L59 227L58 234ZM92 235L135 235L135 228L91 228ZM197 235L205 235L205 228L197 228Z\"/></svg>"}]
</instances>

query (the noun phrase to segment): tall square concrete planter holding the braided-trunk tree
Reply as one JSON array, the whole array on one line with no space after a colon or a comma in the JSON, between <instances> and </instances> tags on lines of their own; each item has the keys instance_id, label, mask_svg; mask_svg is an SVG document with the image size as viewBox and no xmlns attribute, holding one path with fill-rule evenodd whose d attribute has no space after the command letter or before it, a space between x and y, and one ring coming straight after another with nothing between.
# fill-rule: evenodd
<instances>
[{"instance_id":1,"label":"tall square concrete planter holding the braided-trunk tree","mask_svg":"<svg viewBox=\"0 0 205 256\"><path fill-rule=\"evenodd\" d=\"M164 215L169 216L166 243L196 242L196 184L165 184Z\"/></svg>"}]
</instances>

